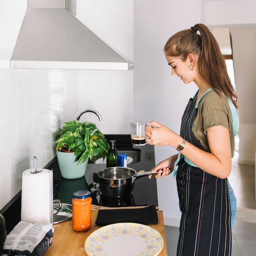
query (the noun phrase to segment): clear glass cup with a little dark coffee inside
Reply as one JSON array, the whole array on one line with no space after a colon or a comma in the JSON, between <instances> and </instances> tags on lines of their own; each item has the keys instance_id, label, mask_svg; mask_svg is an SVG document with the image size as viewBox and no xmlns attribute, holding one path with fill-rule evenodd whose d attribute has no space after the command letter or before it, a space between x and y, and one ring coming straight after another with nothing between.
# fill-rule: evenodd
<instances>
[{"instance_id":1,"label":"clear glass cup with a little dark coffee inside","mask_svg":"<svg viewBox=\"0 0 256 256\"><path fill-rule=\"evenodd\" d=\"M130 123L131 128L131 139L132 144L135 146L146 145L145 126L147 122L132 122Z\"/></svg>"}]
</instances>

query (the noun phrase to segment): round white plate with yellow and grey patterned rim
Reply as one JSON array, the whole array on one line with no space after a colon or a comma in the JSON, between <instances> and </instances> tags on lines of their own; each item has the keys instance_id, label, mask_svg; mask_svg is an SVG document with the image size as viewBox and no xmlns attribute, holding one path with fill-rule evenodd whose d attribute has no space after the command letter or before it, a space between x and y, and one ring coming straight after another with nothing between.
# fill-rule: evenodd
<instances>
[{"instance_id":1,"label":"round white plate with yellow and grey patterned rim","mask_svg":"<svg viewBox=\"0 0 256 256\"><path fill-rule=\"evenodd\" d=\"M161 234L138 223L116 223L94 231L85 241L88 256L156 256L164 246Z\"/></svg>"}]
</instances>

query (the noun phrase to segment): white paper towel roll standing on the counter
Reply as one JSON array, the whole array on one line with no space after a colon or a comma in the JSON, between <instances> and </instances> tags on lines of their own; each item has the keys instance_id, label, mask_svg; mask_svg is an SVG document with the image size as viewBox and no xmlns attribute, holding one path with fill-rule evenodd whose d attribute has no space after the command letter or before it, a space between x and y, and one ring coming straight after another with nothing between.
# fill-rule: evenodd
<instances>
[{"instance_id":1,"label":"white paper towel roll standing on the counter","mask_svg":"<svg viewBox=\"0 0 256 256\"><path fill-rule=\"evenodd\" d=\"M26 222L51 223L52 220L51 171L28 169L22 174L21 220Z\"/></svg>"}]
</instances>

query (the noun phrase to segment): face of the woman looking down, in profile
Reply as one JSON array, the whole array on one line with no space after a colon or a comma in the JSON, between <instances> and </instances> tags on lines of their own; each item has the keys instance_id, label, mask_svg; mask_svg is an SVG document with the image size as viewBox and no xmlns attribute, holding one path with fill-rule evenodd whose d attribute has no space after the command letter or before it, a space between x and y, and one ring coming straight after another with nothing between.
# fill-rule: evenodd
<instances>
[{"instance_id":1,"label":"face of the woman looking down, in profile","mask_svg":"<svg viewBox=\"0 0 256 256\"><path fill-rule=\"evenodd\" d=\"M180 58L175 58L172 56L166 56L168 65L172 69L172 76L177 75L184 83L190 83L194 80L194 72L191 70L190 58L186 61L182 61Z\"/></svg>"}]
</instances>

